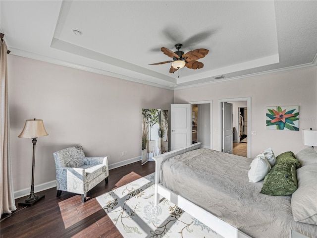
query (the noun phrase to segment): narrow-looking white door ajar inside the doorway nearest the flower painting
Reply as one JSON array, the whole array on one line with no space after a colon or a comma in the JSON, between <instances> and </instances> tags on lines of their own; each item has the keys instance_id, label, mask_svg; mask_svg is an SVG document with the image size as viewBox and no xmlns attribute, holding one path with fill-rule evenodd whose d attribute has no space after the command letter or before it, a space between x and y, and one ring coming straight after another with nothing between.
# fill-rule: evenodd
<instances>
[{"instance_id":1,"label":"narrow-looking white door ajar inside the doorway nearest the flower painting","mask_svg":"<svg viewBox=\"0 0 317 238\"><path fill-rule=\"evenodd\" d=\"M233 153L233 145L232 145L232 103L223 103L222 108L223 113L223 152L232 154Z\"/></svg>"}]
</instances>

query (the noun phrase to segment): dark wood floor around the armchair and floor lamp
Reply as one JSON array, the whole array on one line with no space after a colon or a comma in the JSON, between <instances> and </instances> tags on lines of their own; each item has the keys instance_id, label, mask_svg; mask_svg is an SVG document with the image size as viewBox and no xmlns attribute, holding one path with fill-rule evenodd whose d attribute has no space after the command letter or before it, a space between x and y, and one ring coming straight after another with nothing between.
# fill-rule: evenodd
<instances>
[{"instance_id":1,"label":"dark wood floor around the armchair and floor lamp","mask_svg":"<svg viewBox=\"0 0 317 238\"><path fill-rule=\"evenodd\" d=\"M108 184L103 181L90 190L85 203L74 193L62 192L56 197L55 187L37 193L45 198L30 207L18 206L26 197L16 199L17 211L1 217L0 238L121 238L96 197L153 172L155 162L110 170Z\"/></svg>"}]
</instances>

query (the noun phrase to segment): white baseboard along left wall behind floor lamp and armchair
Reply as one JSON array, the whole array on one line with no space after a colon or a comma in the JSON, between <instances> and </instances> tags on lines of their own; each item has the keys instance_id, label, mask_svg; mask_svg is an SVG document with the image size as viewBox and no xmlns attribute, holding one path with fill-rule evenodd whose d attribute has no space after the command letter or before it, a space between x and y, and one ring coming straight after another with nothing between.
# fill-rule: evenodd
<instances>
[{"instance_id":1,"label":"white baseboard along left wall behind floor lamp and armchair","mask_svg":"<svg viewBox=\"0 0 317 238\"><path fill-rule=\"evenodd\" d=\"M111 165L109 165L109 170L113 170L115 168L119 168L119 167L124 166L124 165L129 165L129 164L132 164L132 163L138 162L138 161L141 161L141 156L111 164ZM152 159L149 159L149 161L152 161ZM39 185L35 185L34 186L34 192L38 193L38 192L41 192L41 191L44 191L46 189L50 189L50 188L53 188L53 187L56 187L56 180L53 180L53 181L50 181L50 182L45 182L45 183L42 183L42 184L39 184ZM20 198L20 197L24 197L24 196L28 196L28 195L30 195L30 191L31 191L31 184L30 184L29 188L25 188L25 189L21 189L21 190L18 190L18 191L14 191L14 199L17 199L17 198Z\"/></svg>"}]
</instances>

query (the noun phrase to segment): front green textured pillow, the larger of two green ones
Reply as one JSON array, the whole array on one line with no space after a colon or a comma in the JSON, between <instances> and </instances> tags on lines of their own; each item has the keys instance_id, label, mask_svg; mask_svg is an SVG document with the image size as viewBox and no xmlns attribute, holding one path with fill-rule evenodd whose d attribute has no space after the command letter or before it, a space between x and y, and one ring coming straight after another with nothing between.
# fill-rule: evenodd
<instances>
[{"instance_id":1,"label":"front green textured pillow, the larger of two green ones","mask_svg":"<svg viewBox=\"0 0 317 238\"><path fill-rule=\"evenodd\" d=\"M296 166L277 164L265 176L261 193L272 196L291 195L297 189Z\"/></svg>"}]
</instances>

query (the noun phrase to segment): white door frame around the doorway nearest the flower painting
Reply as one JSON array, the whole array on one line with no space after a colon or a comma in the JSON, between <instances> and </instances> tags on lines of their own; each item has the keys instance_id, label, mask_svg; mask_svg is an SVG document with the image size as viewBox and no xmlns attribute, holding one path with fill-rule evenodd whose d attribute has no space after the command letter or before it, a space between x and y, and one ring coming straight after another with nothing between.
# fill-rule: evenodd
<instances>
[{"instance_id":1,"label":"white door frame around the doorway nearest the flower painting","mask_svg":"<svg viewBox=\"0 0 317 238\"><path fill-rule=\"evenodd\" d=\"M227 99L219 99L218 100L218 151L221 151L222 148L222 121L221 121L221 115L222 115L222 103L225 102L241 102L241 101L247 101L247 110L248 110L248 137L247 137L247 156L248 158L251 158L251 97L246 98L227 98Z\"/></svg>"}]
</instances>

